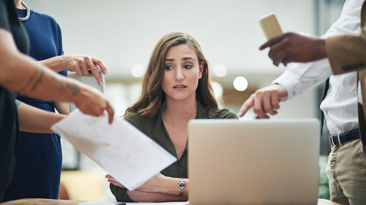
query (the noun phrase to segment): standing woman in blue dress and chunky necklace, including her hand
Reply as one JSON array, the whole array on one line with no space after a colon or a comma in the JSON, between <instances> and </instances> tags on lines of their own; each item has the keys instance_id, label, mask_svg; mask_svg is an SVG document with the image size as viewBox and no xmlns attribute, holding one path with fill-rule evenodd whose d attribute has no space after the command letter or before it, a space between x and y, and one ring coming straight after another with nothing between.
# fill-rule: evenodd
<instances>
[{"instance_id":1,"label":"standing woman in blue dress and chunky necklace, including her hand","mask_svg":"<svg viewBox=\"0 0 366 205\"><path fill-rule=\"evenodd\" d=\"M91 70L102 85L98 69L107 74L100 59L83 55L63 55L61 30L51 16L30 10L20 0L14 1L19 19L23 22L30 42L29 56L39 63L66 76L67 70L88 76ZM18 95L17 99L40 109L68 114L68 102L37 100ZM60 136L56 134L19 132L18 151L10 186L5 189L4 201L20 198L58 199L62 152Z\"/></svg>"}]
</instances>

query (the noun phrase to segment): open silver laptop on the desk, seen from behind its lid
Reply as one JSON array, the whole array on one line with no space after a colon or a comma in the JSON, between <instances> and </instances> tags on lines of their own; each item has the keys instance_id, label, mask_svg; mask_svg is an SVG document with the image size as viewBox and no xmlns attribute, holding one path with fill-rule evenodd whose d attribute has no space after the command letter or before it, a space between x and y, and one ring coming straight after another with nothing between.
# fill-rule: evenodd
<instances>
[{"instance_id":1,"label":"open silver laptop on the desk, seen from behind its lid","mask_svg":"<svg viewBox=\"0 0 366 205\"><path fill-rule=\"evenodd\" d=\"M191 120L188 136L190 205L317 204L317 119Z\"/></svg>"}]
</instances>

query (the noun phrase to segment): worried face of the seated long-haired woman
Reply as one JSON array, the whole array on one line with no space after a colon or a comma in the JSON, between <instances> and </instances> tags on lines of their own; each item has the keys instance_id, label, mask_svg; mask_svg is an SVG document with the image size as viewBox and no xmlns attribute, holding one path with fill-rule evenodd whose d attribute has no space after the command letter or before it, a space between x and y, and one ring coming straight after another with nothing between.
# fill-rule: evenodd
<instances>
[{"instance_id":1,"label":"worried face of the seated long-haired woman","mask_svg":"<svg viewBox=\"0 0 366 205\"><path fill-rule=\"evenodd\" d=\"M181 44L172 46L165 56L162 89L165 97L173 100L185 100L195 94L198 79L202 78L205 62L198 62L194 49ZM195 98L194 98L195 99Z\"/></svg>"}]
</instances>

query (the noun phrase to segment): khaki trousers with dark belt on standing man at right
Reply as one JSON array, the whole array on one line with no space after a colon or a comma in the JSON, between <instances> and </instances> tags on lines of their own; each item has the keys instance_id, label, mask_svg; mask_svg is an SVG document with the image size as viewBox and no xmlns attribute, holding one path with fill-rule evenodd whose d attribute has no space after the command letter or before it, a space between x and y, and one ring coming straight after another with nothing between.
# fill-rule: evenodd
<instances>
[{"instance_id":1,"label":"khaki trousers with dark belt on standing man at right","mask_svg":"<svg viewBox=\"0 0 366 205\"><path fill-rule=\"evenodd\" d=\"M325 172L331 201L366 204L366 153L360 139L333 147Z\"/></svg>"}]
</instances>

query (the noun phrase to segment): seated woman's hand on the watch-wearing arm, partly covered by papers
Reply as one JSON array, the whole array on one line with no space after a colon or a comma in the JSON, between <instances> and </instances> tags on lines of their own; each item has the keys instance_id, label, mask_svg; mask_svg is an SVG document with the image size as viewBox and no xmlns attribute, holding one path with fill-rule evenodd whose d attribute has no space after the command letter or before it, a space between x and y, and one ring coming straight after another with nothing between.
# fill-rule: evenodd
<instances>
[{"instance_id":1,"label":"seated woman's hand on the watch-wearing arm, partly covered by papers","mask_svg":"<svg viewBox=\"0 0 366 205\"><path fill-rule=\"evenodd\" d=\"M108 182L126 189L125 186L123 186L120 182L118 182L111 175L107 174L107 175L105 175L105 178L108 179ZM143 183L143 185L139 186L136 190L139 190L142 192L162 192L162 190L160 190L159 187L161 187L161 185L164 184L163 183L164 178L165 178L165 176L159 172L154 177L149 179L147 182Z\"/></svg>"}]
</instances>

